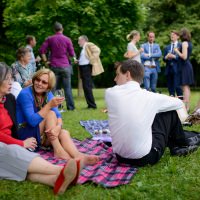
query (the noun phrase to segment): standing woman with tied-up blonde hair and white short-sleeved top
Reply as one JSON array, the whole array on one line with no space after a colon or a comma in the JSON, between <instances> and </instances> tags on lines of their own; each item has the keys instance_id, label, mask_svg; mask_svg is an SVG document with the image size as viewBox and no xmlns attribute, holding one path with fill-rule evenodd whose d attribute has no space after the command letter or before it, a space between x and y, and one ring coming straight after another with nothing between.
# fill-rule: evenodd
<instances>
[{"instance_id":1,"label":"standing woman with tied-up blonde hair and white short-sleeved top","mask_svg":"<svg viewBox=\"0 0 200 200\"><path fill-rule=\"evenodd\" d=\"M128 43L127 52L124 54L124 57L141 63L140 53L143 52L144 49L140 48L138 50L136 47L136 44L140 40L140 33L136 30L133 30L126 36L126 38L130 42Z\"/></svg>"}]
</instances>

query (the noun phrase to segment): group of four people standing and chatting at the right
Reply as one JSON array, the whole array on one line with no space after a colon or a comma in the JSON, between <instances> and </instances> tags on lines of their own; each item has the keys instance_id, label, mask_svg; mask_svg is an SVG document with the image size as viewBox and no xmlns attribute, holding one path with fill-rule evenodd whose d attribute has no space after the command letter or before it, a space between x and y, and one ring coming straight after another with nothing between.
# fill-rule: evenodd
<instances>
[{"instance_id":1,"label":"group of four people standing and chatting at the right","mask_svg":"<svg viewBox=\"0 0 200 200\"><path fill-rule=\"evenodd\" d=\"M181 42L179 42L179 38ZM155 33L148 32L148 42L137 49L136 44L140 40L140 33L132 31L127 35L130 41L127 46L125 58L136 60L144 66L144 88L156 92L158 73L160 70L159 59L162 51L159 44L155 43ZM163 61L166 63L165 75L170 96L176 96L185 102L189 110L190 86L194 84L193 68L190 62L192 53L191 34L186 28L180 32L172 30L170 33L171 43L164 49Z\"/></svg>"}]
</instances>

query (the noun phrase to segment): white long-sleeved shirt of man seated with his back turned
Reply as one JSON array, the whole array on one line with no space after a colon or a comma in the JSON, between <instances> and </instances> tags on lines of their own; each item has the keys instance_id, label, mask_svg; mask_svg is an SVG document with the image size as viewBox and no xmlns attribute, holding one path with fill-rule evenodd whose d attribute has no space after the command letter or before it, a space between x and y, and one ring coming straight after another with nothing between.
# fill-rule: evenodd
<instances>
[{"instance_id":1,"label":"white long-sleeved shirt of man seated with his back turned","mask_svg":"<svg viewBox=\"0 0 200 200\"><path fill-rule=\"evenodd\" d=\"M135 81L107 89L105 100L113 151L132 159L150 152L155 115L183 107L178 98L146 91Z\"/></svg>"}]
</instances>

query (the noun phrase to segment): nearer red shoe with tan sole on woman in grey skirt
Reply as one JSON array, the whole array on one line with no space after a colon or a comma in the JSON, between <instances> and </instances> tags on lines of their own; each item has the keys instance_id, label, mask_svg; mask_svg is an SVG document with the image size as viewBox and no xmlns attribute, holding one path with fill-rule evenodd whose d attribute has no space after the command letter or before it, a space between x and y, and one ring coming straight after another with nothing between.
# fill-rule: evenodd
<instances>
[{"instance_id":1,"label":"nearer red shoe with tan sole on woman in grey skirt","mask_svg":"<svg viewBox=\"0 0 200 200\"><path fill-rule=\"evenodd\" d=\"M66 165L62 168L54 185L53 192L55 195L63 194L67 187L75 181L78 173L77 161L70 159ZM79 167L80 169L80 167Z\"/></svg>"}]
</instances>

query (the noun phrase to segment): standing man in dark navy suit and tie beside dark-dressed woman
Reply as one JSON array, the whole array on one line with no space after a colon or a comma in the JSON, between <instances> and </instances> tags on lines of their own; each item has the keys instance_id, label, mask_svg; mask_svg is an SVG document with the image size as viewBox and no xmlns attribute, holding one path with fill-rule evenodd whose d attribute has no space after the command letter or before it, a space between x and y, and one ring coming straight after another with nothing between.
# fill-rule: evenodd
<instances>
[{"instance_id":1,"label":"standing man in dark navy suit and tie beside dark-dressed woman","mask_svg":"<svg viewBox=\"0 0 200 200\"><path fill-rule=\"evenodd\" d=\"M181 43L178 42L179 33L175 30L171 31L171 44L165 47L163 60L166 63L165 75L167 76L167 87L170 96L175 93L180 99L183 99L183 91L181 89L181 69L178 64L179 56L174 51L175 48L180 49Z\"/></svg>"}]
</instances>

